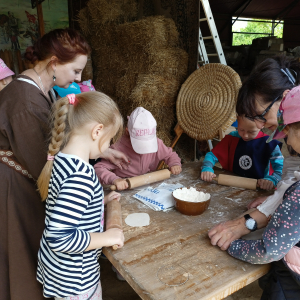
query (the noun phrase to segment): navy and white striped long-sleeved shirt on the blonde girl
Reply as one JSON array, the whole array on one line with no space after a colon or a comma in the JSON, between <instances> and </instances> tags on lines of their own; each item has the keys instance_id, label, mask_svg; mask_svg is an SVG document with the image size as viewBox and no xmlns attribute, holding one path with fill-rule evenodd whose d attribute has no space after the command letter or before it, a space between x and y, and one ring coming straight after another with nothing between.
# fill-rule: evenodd
<instances>
[{"instance_id":1,"label":"navy and white striped long-sleeved shirt on the blonde girl","mask_svg":"<svg viewBox=\"0 0 300 300\"><path fill-rule=\"evenodd\" d=\"M99 282L101 249L84 250L89 232L103 231L103 214L103 189L94 168L76 155L58 153L38 253L37 280L45 297L82 294Z\"/></svg>"}]
</instances>

